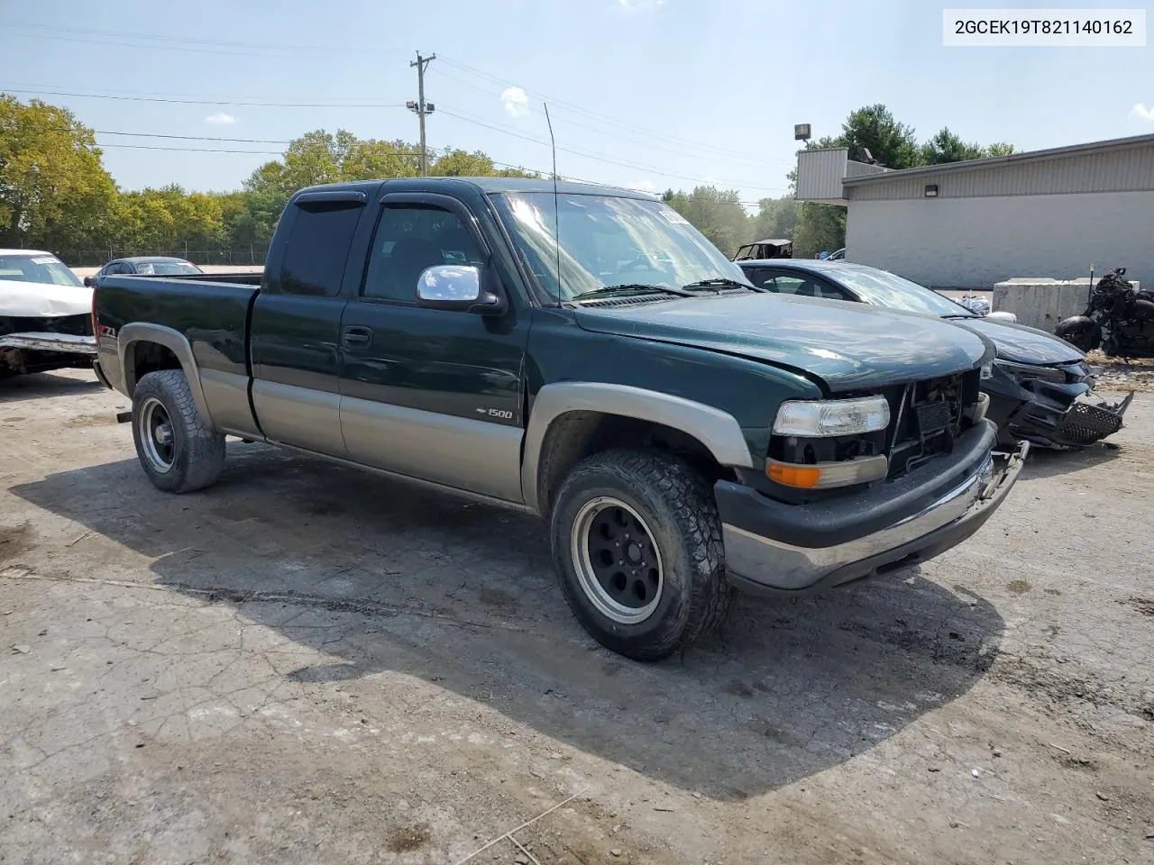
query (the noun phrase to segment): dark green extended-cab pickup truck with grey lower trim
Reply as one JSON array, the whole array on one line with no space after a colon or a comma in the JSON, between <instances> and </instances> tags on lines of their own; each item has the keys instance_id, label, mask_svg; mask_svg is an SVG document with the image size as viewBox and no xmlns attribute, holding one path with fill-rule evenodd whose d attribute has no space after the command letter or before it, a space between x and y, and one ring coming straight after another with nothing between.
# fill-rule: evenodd
<instances>
[{"instance_id":1,"label":"dark green extended-cab pickup truck with grey lower trim","mask_svg":"<svg viewBox=\"0 0 1154 865\"><path fill-rule=\"evenodd\" d=\"M639 660L718 625L734 588L938 555L1025 456L994 452L983 337L759 291L607 187L313 187L263 274L102 277L92 315L159 489L212 483L231 435L538 514L574 614Z\"/></svg>"}]
</instances>

